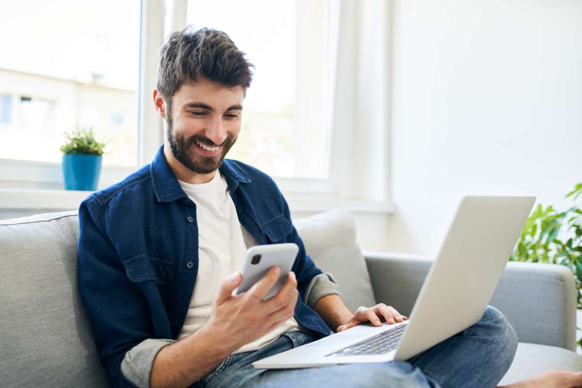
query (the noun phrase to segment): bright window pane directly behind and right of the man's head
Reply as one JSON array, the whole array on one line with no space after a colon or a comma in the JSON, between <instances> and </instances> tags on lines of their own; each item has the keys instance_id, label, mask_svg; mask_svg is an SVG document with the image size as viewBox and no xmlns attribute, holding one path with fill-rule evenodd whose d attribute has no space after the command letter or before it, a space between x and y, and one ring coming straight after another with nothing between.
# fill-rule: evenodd
<instances>
[{"instance_id":1,"label":"bright window pane directly behind and right of the man's head","mask_svg":"<svg viewBox=\"0 0 582 388\"><path fill-rule=\"evenodd\" d=\"M225 31L255 65L230 158L271 176L329 178L337 6L327 0L188 2L187 24Z\"/></svg>"}]
</instances>

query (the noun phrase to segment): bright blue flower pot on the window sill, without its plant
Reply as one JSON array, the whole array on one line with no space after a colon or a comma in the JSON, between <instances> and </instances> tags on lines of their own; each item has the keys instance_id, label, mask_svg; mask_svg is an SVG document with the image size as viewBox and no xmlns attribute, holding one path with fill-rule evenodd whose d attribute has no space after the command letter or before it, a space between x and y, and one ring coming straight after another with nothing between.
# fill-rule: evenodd
<instances>
[{"instance_id":1,"label":"bright blue flower pot on the window sill, without its plant","mask_svg":"<svg viewBox=\"0 0 582 388\"><path fill-rule=\"evenodd\" d=\"M97 190L101 173L101 155L63 155L65 190Z\"/></svg>"}]
</instances>

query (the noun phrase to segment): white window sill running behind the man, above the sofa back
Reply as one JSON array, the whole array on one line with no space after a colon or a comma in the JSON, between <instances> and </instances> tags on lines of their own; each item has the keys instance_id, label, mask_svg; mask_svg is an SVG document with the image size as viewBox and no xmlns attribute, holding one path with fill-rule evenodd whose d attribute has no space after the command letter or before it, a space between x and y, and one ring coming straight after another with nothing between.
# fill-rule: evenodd
<instances>
[{"instance_id":1,"label":"white window sill running behind the man, above the sofa back","mask_svg":"<svg viewBox=\"0 0 582 388\"><path fill-rule=\"evenodd\" d=\"M2 209L78 209L80 203L93 191L39 190L25 188L0 188ZM321 195L289 195L289 208L293 212L323 212L345 209L354 213L393 213L395 205L388 201L339 200Z\"/></svg>"}]
</instances>

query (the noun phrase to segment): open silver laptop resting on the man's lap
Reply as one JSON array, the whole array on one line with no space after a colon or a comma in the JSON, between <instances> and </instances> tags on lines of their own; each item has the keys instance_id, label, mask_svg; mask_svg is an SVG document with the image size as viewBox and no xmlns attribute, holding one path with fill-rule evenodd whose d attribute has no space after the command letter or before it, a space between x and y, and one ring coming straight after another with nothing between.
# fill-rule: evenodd
<instances>
[{"instance_id":1,"label":"open silver laptop resting on the man's lap","mask_svg":"<svg viewBox=\"0 0 582 388\"><path fill-rule=\"evenodd\" d=\"M256 361L253 367L404 361L477 323L534 202L535 197L464 197L408 321L355 326Z\"/></svg>"}]
</instances>

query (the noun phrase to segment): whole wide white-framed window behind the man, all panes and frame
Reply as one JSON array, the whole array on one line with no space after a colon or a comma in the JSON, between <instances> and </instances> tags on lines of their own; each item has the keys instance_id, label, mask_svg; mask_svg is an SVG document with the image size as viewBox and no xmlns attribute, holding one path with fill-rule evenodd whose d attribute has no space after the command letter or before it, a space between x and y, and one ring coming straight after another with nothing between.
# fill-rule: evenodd
<instances>
[{"instance_id":1,"label":"whole wide white-framed window behind the man, all panes and frame","mask_svg":"<svg viewBox=\"0 0 582 388\"><path fill-rule=\"evenodd\" d=\"M389 2L218 3L3 4L0 187L62 190L61 134L77 124L111 139L100 188L150 163L159 48L193 24L226 31L256 66L230 157L273 176L294 211L388 209Z\"/></svg>"}]
</instances>

